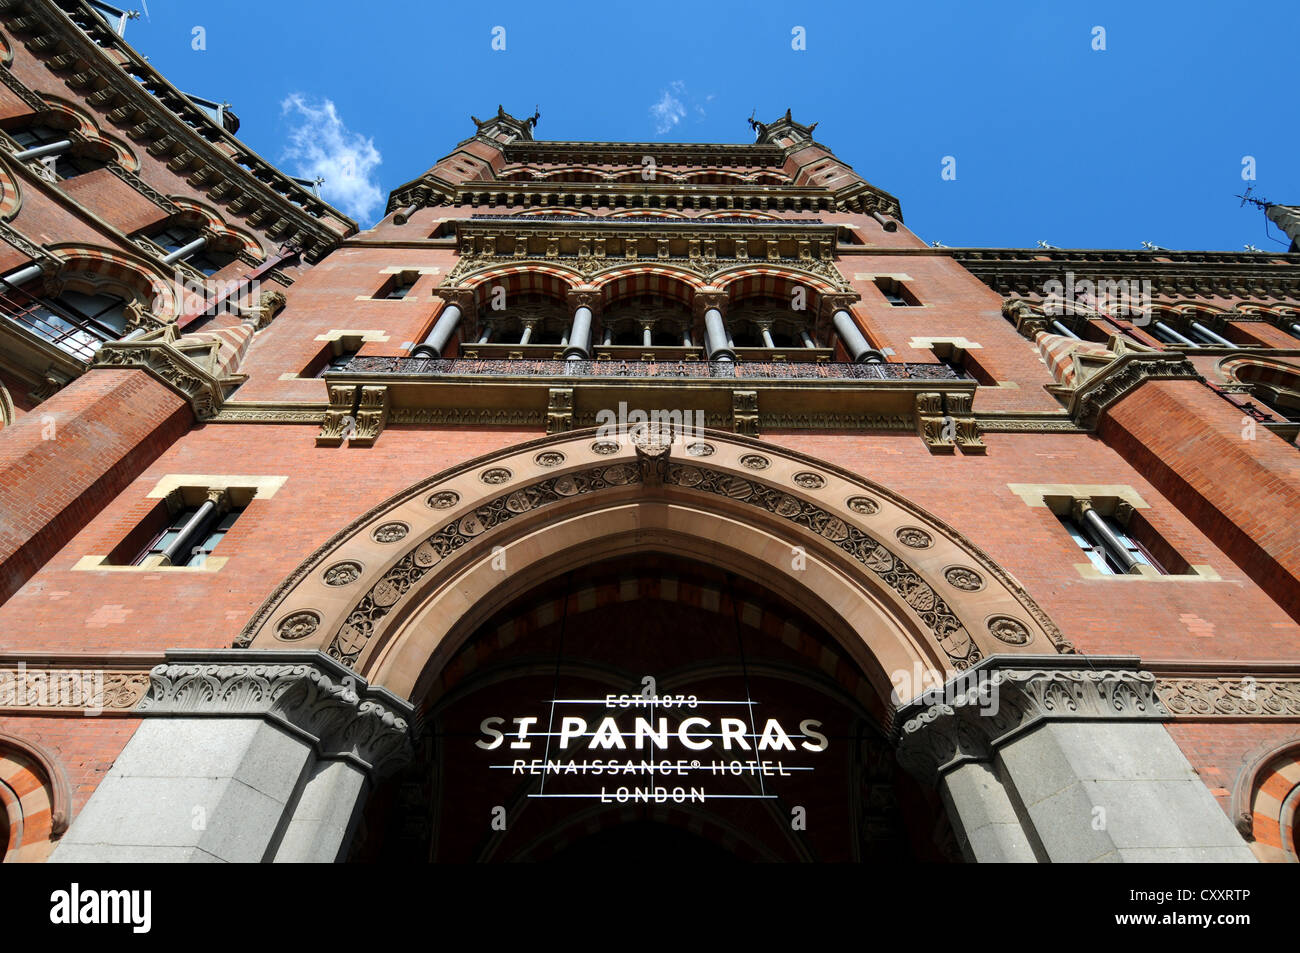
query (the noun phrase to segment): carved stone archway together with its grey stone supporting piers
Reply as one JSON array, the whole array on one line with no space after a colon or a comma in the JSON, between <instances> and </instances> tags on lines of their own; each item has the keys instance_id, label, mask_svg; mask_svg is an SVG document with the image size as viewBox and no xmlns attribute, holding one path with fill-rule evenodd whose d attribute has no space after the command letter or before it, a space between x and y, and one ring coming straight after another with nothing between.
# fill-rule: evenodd
<instances>
[{"instance_id":1,"label":"carved stone archway together with its grey stone supporting piers","mask_svg":"<svg viewBox=\"0 0 1300 953\"><path fill-rule=\"evenodd\" d=\"M835 640L967 859L1253 859L1136 659L1075 655L984 553L884 486L731 433L675 436L521 443L352 521L237 647L168 653L55 859L346 857L369 792L411 757L425 680L540 582L645 553L762 586ZM178 806L196 788L202 831Z\"/></svg>"}]
</instances>

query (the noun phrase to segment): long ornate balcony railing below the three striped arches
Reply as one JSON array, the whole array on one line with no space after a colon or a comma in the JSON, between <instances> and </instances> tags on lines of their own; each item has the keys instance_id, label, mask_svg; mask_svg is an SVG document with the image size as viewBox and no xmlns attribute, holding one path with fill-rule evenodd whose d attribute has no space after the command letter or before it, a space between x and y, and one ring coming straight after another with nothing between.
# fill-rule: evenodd
<instances>
[{"instance_id":1,"label":"long ornate balcony railing below the three striped arches","mask_svg":"<svg viewBox=\"0 0 1300 953\"><path fill-rule=\"evenodd\" d=\"M838 364L798 361L707 360L484 360L425 358L354 358L338 374L403 378L660 378L734 381L970 381L948 364ZM330 374L333 377L334 374Z\"/></svg>"}]
</instances>

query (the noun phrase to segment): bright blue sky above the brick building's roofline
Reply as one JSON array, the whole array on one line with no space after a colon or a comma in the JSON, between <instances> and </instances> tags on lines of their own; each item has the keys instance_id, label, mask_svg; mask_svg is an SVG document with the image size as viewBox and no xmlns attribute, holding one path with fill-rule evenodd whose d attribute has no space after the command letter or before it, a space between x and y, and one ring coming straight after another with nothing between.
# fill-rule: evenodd
<instances>
[{"instance_id":1,"label":"bright blue sky above the brick building's roofline","mask_svg":"<svg viewBox=\"0 0 1300 953\"><path fill-rule=\"evenodd\" d=\"M127 40L363 225L498 103L540 105L542 139L637 142L750 142L789 107L953 247L1283 251L1234 195L1300 204L1296 0L144 3Z\"/></svg>"}]
</instances>

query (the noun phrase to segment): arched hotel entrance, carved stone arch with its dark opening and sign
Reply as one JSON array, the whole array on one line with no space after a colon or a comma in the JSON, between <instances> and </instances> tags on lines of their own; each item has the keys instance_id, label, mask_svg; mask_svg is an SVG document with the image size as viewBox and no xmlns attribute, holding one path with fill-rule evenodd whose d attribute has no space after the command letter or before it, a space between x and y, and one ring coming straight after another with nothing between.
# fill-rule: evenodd
<instances>
[{"instance_id":1,"label":"arched hotel entrance, carved stone arch with its dark opening and sign","mask_svg":"<svg viewBox=\"0 0 1300 953\"><path fill-rule=\"evenodd\" d=\"M413 705L413 762L352 855L455 861L659 835L749 859L952 858L937 792L893 758L897 705L991 654L1069 650L885 488L668 426L547 438L412 488L240 644L316 647ZM602 702L647 692L698 707Z\"/></svg>"}]
</instances>

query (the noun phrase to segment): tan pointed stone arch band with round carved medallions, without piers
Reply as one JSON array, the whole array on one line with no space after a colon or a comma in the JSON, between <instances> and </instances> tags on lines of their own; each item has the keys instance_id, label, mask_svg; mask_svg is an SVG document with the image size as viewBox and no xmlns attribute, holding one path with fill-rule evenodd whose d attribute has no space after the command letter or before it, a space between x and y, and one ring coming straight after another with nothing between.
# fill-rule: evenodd
<instances>
[{"instance_id":1,"label":"tan pointed stone arch band with round carved medallions, without piers","mask_svg":"<svg viewBox=\"0 0 1300 953\"><path fill-rule=\"evenodd\" d=\"M898 672L946 677L992 654L1072 651L983 551L879 484L731 433L594 429L472 460L376 507L308 558L237 645L318 649L411 697L499 606L634 551L771 588L884 698Z\"/></svg>"}]
</instances>

